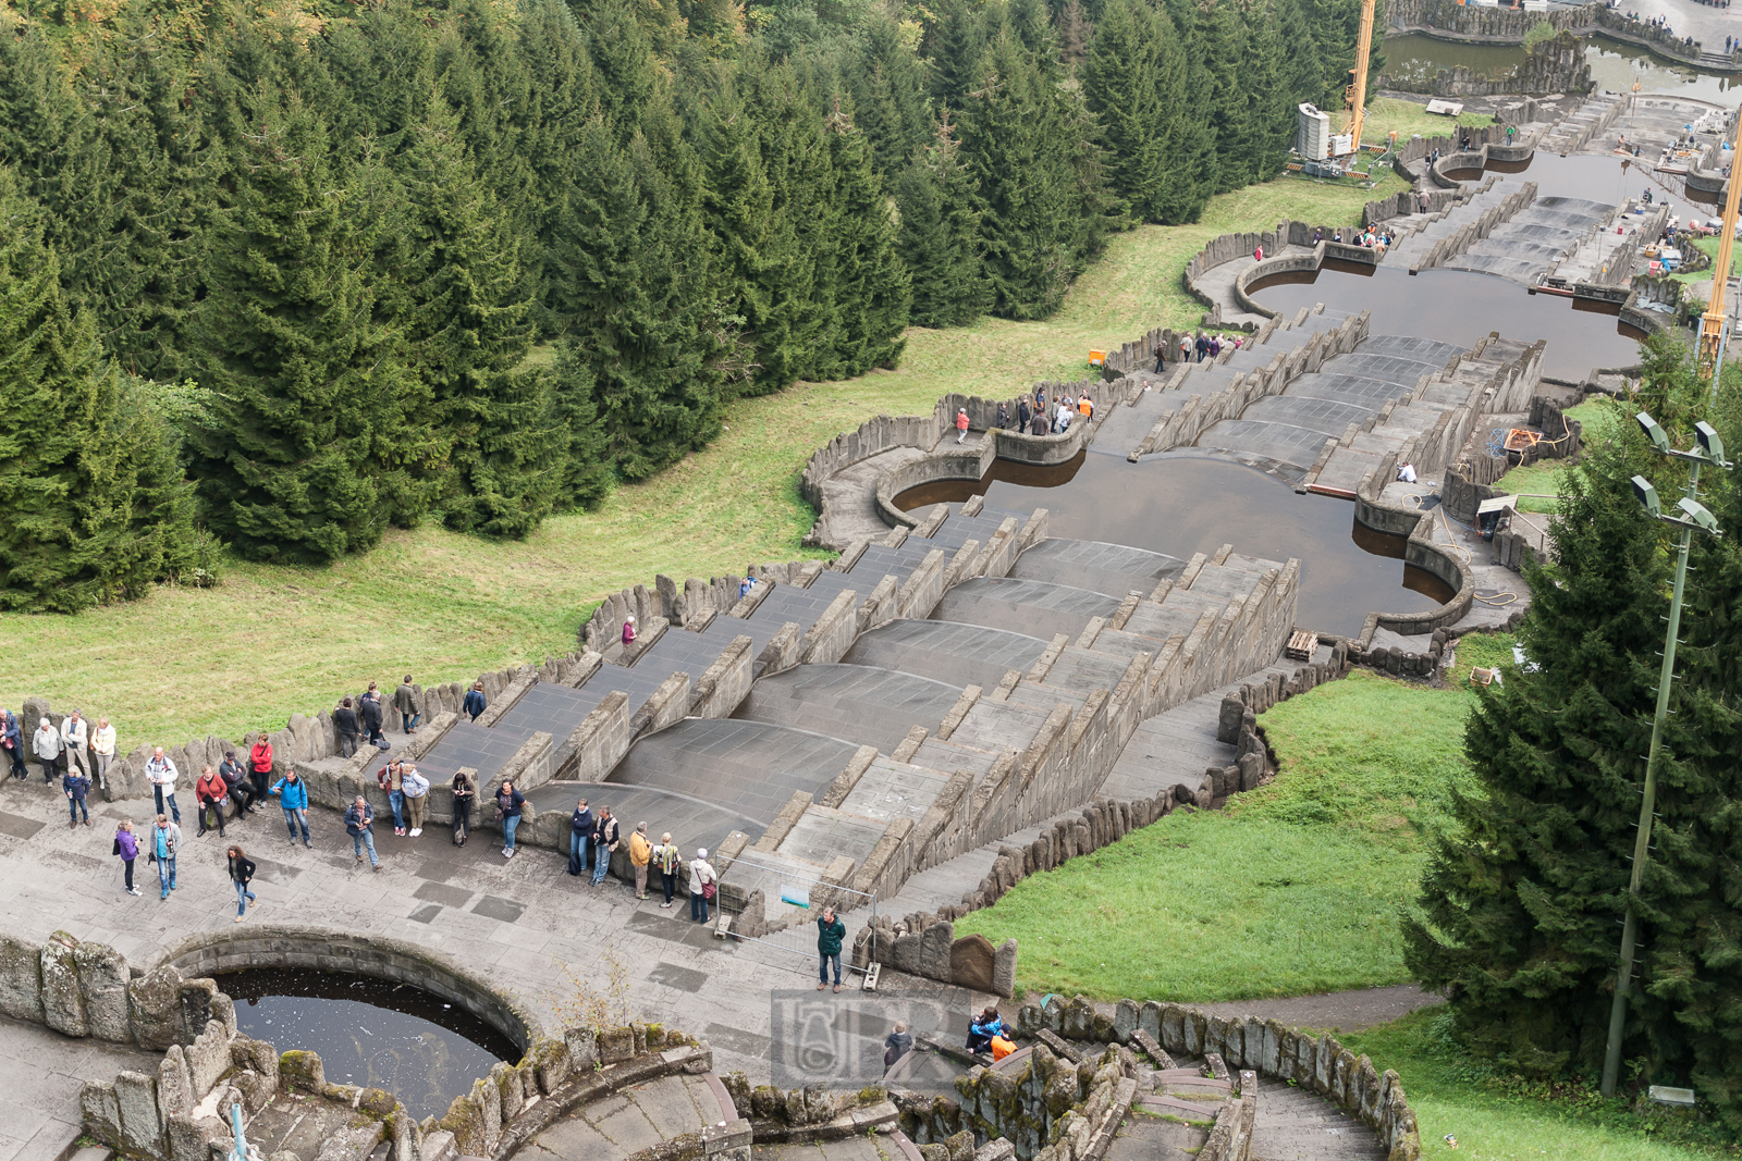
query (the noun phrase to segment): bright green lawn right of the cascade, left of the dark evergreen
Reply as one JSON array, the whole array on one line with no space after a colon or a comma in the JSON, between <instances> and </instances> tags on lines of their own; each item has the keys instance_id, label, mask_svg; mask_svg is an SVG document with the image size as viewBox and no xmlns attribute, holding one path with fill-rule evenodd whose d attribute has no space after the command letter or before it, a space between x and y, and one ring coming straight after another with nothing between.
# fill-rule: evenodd
<instances>
[{"instance_id":1,"label":"bright green lawn right of the cascade, left of the dark evergreen","mask_svg":"<svg viewBox=\"0 0 1742 1161\"><path fill-rule=\"evenodd\" d=\"M1510 661L1469 637L1458 668ZM1280 762L1228 809L1169 815L1031 876L956 923L1023 947L1017 985L1099 999L1223 1001L1402 983L1397 912L1416 893L1423 827L1469 778L1474 696L1366 670L1265 714ZM1111 956L1144 933L1148 956Z\"/></svg>"}]
</instances>

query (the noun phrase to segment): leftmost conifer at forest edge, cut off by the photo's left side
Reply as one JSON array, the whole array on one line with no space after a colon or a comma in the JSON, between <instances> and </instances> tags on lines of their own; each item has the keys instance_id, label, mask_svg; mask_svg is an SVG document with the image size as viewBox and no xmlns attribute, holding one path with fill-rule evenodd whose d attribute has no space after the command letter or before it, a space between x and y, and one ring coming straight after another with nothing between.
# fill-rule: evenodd
<instances>
[{"instance_id":1,"label":"leftmost conifer at forest edge, cut off by the photo's left side","mask_svg":"<svg viewBox=\"0 0 1742 1161\"><path fill-rule=\"evenodd\" d=\"M77 613L190 559L193 491L68 306L42 223L0 169L0 607Z\"/></svg>"}]
</instances>

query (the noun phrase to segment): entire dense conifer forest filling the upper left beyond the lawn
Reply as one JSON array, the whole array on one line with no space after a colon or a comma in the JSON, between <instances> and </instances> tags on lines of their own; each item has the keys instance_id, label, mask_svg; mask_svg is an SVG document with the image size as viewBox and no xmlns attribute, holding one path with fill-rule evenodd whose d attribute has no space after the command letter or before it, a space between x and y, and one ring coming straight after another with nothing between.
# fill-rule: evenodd
<instances>
[{"instance_id":1,"label":"entire dense conifer forest filling the upper left beyond the lawn","mask_svg":"<svg viewBox=\"0 0 1742 1161\"><path fill-rule=\"evenodd\" d=\"M1355 0L5 9L0 602L523 536L1273 178ZM538 359L528 353L538 348ZM554 357L550 357L554 353Z\"/></svg>"}]
</instances>

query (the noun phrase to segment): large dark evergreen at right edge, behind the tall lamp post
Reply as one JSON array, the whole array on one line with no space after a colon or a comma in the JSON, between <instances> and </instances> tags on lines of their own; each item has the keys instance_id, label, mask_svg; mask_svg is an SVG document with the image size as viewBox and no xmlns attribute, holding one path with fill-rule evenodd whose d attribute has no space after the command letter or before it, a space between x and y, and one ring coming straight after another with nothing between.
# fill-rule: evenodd
<instances>
[{"instance_id":1,"label":"large dark evergreen at right edge, behind the tall lamp post","mask_svg":"<svg viewBox=\"0 0 1742 1161\"><path fill-rule=\"evenodd\" d=\"M1662 339L1646 388L1669 416L1704 397L1685 355ZM1629 479L1655 477L1674 494L1685 466L1651 454L1631 423L1618 426L1617 442L1587 447L1564 477L1554 560L1526 576L1519 639L1531 665L1481 695L1465 736L1479 790L1455 799L1456 827L1435 836L1421 914L1404 926L1406 963L1446 989L1467 1043L1529 1076L1589 1076L1601 1064L1657 700L1671 536L1641 513ZM1742 437L1733 404L1719 426ZM1691 442L1679 423L1669 430ZM1728 531L1742 520L1735 486L1712 484ZM1742 978L1723 867L1742 839L1742 567L1728 538L1695 543L1625 1055L1646 1058L1643 1081L1691 1081L1737 1124L1732 1044L1742 1020L1725 997Z\"/></svg>"}]
</instances>

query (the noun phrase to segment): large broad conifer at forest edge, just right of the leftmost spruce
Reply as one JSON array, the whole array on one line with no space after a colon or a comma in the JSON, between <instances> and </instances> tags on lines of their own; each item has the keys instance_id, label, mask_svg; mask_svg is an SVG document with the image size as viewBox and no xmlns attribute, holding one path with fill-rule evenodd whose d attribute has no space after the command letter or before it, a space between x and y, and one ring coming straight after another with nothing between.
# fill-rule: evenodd
<instances>
[{"instance_id":1,"label":"large broad conifer at forest edge, just right of the leftmost spruce","mask_svg":"<svg viewBox=\"0 0 1742 1161\"><path fill-rule=\"evenodd\" d=\"M193 466L239 552L331 560L375 545L413 491L399 440L416 383L376 324L319 118L289 97L244 148L197 319L218 402Z\"/></svg>"}]
</instances>

